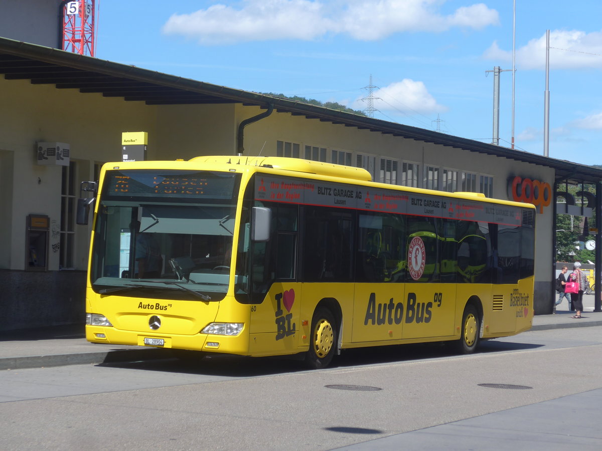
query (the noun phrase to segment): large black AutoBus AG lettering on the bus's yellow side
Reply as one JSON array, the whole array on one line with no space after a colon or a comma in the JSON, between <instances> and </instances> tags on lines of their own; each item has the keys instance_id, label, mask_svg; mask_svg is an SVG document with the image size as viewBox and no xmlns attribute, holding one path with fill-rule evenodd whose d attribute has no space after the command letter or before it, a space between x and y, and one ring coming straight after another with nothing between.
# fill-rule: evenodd
<instances>
[{"instance_id":1,"label":"large black AutoBus AG lettering on the bus's yellow side","mask_svg":"<svg viewBox=\"0 0 602 451\"><path fill-rule=\"evenodd\" d=\"M368 306L364 316L364 325L420 324L430 322L432 319L433 306L441 307L442 293L435 293L433 301L418 302L416 293L408 293L405 316L403 302L395 302L393 298L389 302L376 302L376 293L370 293Z\"/></svg>"}]
</instances>

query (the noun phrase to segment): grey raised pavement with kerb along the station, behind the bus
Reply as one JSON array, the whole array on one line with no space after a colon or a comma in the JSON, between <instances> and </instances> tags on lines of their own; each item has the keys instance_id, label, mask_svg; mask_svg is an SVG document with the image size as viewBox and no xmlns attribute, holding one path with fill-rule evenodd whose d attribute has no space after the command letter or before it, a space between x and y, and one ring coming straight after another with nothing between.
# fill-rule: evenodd
<instances>
[{"instance_id":1,"label":"grey raised pavement with kerb along the station, behind the bus","mask_svg":"<svg viewBox=\"0 0 602 451\"><path fill-rule=\"evenodd\" d=\"M594 295L583 296L581 319L573 319L566 301L556 314L536 315L532 330L602 325L602 313L594 312ZM90 343L84 325L0 333L0 370L62 366L110 361L131 361L166 355L165 349Z\"/></svg>"}]
</instances>

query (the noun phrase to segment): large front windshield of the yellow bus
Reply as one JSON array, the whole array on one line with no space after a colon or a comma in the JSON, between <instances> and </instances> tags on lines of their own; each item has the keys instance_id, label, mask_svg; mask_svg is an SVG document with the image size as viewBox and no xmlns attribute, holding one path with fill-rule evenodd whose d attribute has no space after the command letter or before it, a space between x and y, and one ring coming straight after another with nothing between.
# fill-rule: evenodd
<instances>
[{"instance_id":1,"label":"large front windshield of the yellow bus","mask_svg":"<svg viewBox=\"0 0 602 451\"><path fill-rule=\"evenodd\" d=\"M157 179L150 170L123 172L120 177ZM195 174L209 180L205 186L217 177ZM220 180L222 189L216 195L210 188L202 195L191 194L190 187L184 193L172 187L166 195L167 188L161 186L116 195L115 186L107 184L96 217L90 264L93 289L145 298L223 299L229 284L237 185L234 176L225 176L231 183ZM169 182L173 179L170 174ZM132 185L135 181L129 181L128 188ZM151 195L153 191L157 195Z\"/></svg>"}]
</instances>

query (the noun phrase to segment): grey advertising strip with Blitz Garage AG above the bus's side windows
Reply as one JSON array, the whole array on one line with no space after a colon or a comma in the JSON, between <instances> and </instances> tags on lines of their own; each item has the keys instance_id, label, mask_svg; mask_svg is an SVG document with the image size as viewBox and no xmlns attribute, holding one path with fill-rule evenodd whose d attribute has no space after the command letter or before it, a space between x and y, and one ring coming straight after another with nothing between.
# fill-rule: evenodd
<instances>
[{"instance_id":1,"label":"grey advertising strip with Blitz Garage AG above the bus's side windows","mask_svg":"<svg viewBox=\"0 0 602 451\"><path fill-rule=\"evenodd\" d=\"M521 225L520 207L347 183L257 174L255 199Z\"/></svg>"}]
</instances>

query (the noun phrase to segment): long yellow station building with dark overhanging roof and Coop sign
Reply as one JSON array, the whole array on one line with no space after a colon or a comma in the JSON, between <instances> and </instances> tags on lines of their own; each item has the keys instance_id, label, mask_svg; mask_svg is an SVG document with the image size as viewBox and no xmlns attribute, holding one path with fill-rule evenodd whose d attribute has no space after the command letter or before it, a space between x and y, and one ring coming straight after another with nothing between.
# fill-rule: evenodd
<instances>
[{"instance_id":1,"label":"long yellow station building with dark overhanging roof and Coop sign","mask_svg":"<svg viewBox=\"0 0 602 451\"><path fill-rule=\"evenodd\" d=\"M261 153L534 203L536 314L551 313L556 296L557 210L601 210L598 168L64 52L55 31L37 28L33 43L18 29L17 39L0 38L0 331L84 321L91 225L75 224L79 186L122 161L124 132L146 132L152 160ZM573 205L563 191L582 183L597 195ZM600 230L600 220L590 224Z\"/></svg>"}]
</instances>

